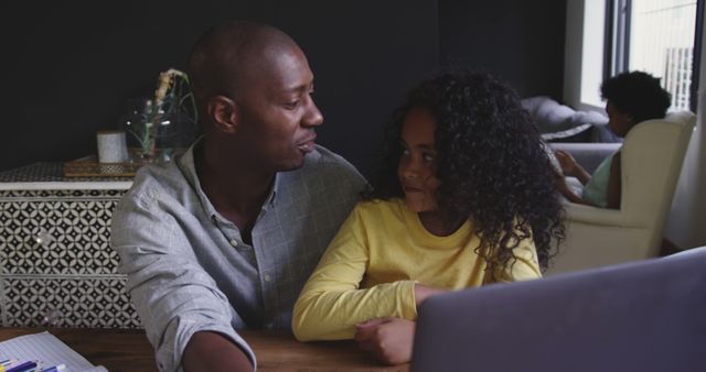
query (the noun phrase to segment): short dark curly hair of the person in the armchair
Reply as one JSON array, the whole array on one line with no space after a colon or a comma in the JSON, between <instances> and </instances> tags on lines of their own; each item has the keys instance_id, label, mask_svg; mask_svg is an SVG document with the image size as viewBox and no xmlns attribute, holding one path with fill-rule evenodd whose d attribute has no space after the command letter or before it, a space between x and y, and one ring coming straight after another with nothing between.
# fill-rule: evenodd
<instances>
[{"instance_id":1,"label":"short dark curly hair of the person in the armchair","mask_svg":"<svg viewBox=\"0 0 706 372\"><path fill-rule=\"evenodd\" d=\"M601 98L609 100L639 123L664 118L672 105L672 95L660 85L660 79L643 72L618 74L600 86Z\"/></svg>"}]
</instances>

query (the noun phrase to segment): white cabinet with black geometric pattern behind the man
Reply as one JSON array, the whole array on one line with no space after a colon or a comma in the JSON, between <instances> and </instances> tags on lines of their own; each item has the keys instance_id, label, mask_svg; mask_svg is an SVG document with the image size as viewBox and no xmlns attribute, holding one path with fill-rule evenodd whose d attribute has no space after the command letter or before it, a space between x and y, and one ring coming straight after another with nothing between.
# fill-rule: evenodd
<instances>
[{"instance_id":1,"label":"white cabinet with black geometric pattern behind the man","mask_svg":"<svg viewBox=\"0 0 706 372\"><path fill-rule=\"evenodd\" d=\"M129 178L64 178L61 163L0 173L3 327L140 327L110 249Z\"/></svg>"}]
</instances>

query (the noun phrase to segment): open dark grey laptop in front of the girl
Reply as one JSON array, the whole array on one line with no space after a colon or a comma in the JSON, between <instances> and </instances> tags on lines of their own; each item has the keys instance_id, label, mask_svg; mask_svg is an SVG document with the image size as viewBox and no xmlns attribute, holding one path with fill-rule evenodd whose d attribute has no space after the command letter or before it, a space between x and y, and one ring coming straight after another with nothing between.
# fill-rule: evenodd
<instances>
[{"instance_id":1,"label":"open dark grey laptop in front of the girl","mask_svg":"<svg viewBox=\"0 0 706 372\"><path fill-rule=\"evenodd\" d=\"M429 298L413 372L706 371L706 247Z\"/></svg>"}]
</instances>

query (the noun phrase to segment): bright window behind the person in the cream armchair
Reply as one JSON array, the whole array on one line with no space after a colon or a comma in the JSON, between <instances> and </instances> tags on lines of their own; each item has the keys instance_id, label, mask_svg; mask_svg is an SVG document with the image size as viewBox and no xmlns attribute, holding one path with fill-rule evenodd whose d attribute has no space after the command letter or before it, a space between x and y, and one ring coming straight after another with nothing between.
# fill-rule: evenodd
<instances>
[{"instance_id":1,"label":"bright window behind the person in the cream armchair","mask_svg":"<svg viewBox=\"0 0 706 372\"><path fill-rule=\"evenodd\" d=\"M602 108L605 79L644 70L672 94L672 110L696 112L704 1L569 0L565 100Z\"/></svg>"}]
</instances>

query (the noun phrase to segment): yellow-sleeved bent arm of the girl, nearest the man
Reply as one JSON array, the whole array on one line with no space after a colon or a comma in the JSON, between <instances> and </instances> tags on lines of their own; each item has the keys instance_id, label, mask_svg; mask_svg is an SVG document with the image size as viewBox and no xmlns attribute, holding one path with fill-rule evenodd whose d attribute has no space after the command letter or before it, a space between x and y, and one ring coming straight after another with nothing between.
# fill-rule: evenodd
<instances>
[{"instance_id":1,"label":"yellow-sleeved bent arm of the girl, nearest the man","mask_svg":"<svg viewBox=\"0 0 706 372\"><path fill-rule=\"evenodd\" d=\"M359 211L343 223L299 295L292 331L300 341L352 339L355 325L368 319L417 317L414 281L360 289L370 251Z\"/></svg>"}]
</instances>

